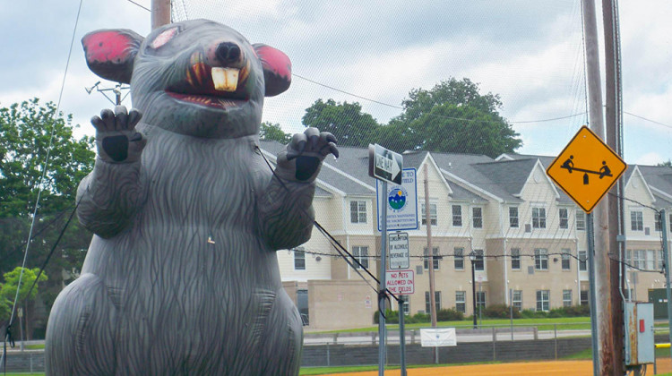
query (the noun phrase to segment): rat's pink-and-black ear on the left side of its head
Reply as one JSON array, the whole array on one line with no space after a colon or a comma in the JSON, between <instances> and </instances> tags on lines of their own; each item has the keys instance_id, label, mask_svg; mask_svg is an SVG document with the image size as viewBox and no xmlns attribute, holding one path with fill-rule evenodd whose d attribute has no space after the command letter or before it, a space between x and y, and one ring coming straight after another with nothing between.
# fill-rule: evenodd
<instances>
[{"instance_id":1,"label":"rat's pink-and-black ear on the left side of its head","mask_svg":"<svg viewBox=\"0 0 672 376\"><path fill-rule=\"evenodd\" d=\"M96 30L82 38L91 72L116 82L131 83L133 64L142 36L133 30Z\"/></svg>"}]
</instances>

